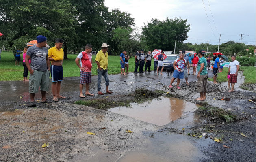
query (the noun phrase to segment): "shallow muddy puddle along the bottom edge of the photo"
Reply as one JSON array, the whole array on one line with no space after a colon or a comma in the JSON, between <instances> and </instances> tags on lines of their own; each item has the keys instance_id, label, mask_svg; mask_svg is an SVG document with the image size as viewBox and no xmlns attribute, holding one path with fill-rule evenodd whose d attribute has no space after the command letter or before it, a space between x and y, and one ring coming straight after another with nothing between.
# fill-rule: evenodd
<instances>
[{"instance_id":1,"label":"shallow muddy puddle along the bottom edge of the photo","mask_svg":"<svg viewBox=\"0 0 256 162\"><path fill-rule=\"evenodd\" d=\"M207 145L203 141L199 145ZM193 141L178 134L154 134L140 151L129 151L117 162L198 162L204 155Z\"/></svg>"}]
</instances>

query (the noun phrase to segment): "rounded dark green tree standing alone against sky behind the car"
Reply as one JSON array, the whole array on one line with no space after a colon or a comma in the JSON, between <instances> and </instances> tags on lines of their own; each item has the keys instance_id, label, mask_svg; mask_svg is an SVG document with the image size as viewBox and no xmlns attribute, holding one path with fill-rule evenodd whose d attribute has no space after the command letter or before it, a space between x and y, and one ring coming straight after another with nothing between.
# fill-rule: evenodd
<instances>
[{"instance_id":1,"label":"rounded dark green tree standing alone against sky behind the car","mask_svg":"<svg viewBox=\"0 0 256 162\"><path fill-rule=\"evenodd\" d=\"M187 19L169 19L159 21L152 19L151 22L145 24L141 28L143 34L143 41L150 47L150 49L162 49L163 51L173 51L175 45L175 38L177 36L176 48L179 49L182 42L187 39L187 32L189 32L189 24Z\"/></svg>"}]
</instances>

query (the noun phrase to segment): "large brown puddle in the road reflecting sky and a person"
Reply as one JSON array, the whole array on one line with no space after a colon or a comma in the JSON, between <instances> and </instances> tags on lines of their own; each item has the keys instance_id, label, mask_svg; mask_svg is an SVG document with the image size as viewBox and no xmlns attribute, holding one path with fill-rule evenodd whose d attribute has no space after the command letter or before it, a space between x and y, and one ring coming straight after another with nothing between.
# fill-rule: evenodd
<instances>
[{"instance_id":1,"label":"large brown puddle in the road reflecting sky and a person","mask_svg":"<svg viewBox=\"0 0 256 162\"><path fill-rule=\"evenodd\" d=\"M108 111L163 126L189 112L195 111L198 107L197 104L168 97L161 97L161 100L153 99L142 104L131 103L131 105L132 108L114 107L108 109Z\"/></svg>"}]
</instances>

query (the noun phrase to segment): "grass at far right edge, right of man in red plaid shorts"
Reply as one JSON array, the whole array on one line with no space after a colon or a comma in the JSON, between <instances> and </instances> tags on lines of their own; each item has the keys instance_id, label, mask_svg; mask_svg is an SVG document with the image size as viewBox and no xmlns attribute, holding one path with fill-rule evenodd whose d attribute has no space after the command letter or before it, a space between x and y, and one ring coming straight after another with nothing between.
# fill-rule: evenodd
<instances>
[{"instance_id":1,"label":"grass at far right edge, right of man in red plaid shorts","mask_svg":"<svg viewBox=\"0 0 256 162\"><path fill-rule=\"evenodd\" d=\"M254 66L242 66L240 69L245 76L245 84L255 84L255 67Z\"/></svg>"}]
</instances>

